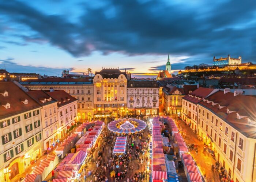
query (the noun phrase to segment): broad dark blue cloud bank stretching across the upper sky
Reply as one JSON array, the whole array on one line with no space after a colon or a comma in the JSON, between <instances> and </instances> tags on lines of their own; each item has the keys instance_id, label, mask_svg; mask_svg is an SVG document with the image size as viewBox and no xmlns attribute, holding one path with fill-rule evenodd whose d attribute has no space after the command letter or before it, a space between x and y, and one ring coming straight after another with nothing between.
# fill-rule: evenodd
<instances>
[{"instance_id":1,"label":"broad dark blue cloud bank stretching across the upper sky","mask_svg":"<svg viewBox=\"0 0 256 182\"><path fill-rule=\"evenodd\" d=\"M47 41L75 57L101 51L203 54L205 60L200 63L227 54L241 55L246 61L256 59L256 1L202 1L202 6L193 6L189 1L105 0L93 7L82 2L81 7L82 15L72 22L68 15L49 15L20 1L2 1L0 15L36 32L36 36L23 37L24 45Z\"/></svg>"}]
</instances>

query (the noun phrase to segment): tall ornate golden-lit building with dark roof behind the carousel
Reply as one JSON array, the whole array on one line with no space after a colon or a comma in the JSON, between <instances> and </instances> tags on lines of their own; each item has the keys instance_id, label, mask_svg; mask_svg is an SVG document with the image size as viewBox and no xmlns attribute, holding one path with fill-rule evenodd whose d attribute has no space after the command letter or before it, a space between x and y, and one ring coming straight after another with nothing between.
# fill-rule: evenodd
<instances>
[{"instance_id":1,"label":"tall ornate golden-lit building with dark roof behind the carousel","mask_svg":"<svg viewBox=\"0 0 256 182\"><path fill-rule=\"evenodd\" d=\"M127 114L127 74L117 68L103 68L93 79L94 112L97 117Z\"/></svg>"}]
</instances>

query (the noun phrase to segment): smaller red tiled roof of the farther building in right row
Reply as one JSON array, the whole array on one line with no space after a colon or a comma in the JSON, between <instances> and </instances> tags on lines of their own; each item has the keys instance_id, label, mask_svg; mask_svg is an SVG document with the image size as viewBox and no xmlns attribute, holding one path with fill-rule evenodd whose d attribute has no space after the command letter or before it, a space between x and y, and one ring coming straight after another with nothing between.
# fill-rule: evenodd
<instances>
[{"instance_id":1,"label":"smaller red tiled roof of the farther building in right row","mask_svg":"<svg viewBox=\"0 0 256 182\"><path fill-rule=\"evenodd\" d=\"M193 91L191 94L188 94L188 95L184 96L182 99L188 100L188 101L193 102L193 103L199 103L206 96L211 94L211 92L213 92L213 91L214 91L214 89L212 89L212 88L199 87L195 91ZM193 97L191 97L189 95L192 95ZM195 97L199 97L199 99L195 98Z\"/></svg>"}]
</instances>

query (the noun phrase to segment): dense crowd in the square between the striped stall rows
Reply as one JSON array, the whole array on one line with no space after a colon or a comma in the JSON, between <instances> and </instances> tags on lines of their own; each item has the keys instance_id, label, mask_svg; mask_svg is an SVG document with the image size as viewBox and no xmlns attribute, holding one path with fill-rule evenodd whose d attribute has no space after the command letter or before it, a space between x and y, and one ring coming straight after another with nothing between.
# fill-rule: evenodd
<instances>
[{"instance_id":1,"label":"dense crowd in the square between the striped stall rows","mask_svg":"<svg viewBox=\"0 0 256 182\"><path fill-rule=\"evenodd\" d=\"M150 139L147 129L126 135L125 153L113 153L118 136L122 135L109 131L107 127L103 129L97 141L100 145L96 144L97 147L90 151L83 166L84 181L147 181L149 178L147 170L149 158L145 154L148 152L147 143Z\"/></svg>"}]
</instances>

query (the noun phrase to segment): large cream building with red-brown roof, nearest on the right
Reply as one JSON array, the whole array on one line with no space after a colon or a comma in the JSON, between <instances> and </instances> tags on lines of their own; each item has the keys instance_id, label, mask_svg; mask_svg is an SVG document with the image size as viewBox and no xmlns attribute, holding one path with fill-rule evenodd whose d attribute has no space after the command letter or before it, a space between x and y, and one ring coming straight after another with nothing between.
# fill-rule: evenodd
<instances>
[{"instance_id":1,"label":"large cream building with red-brown roof, nearest on the right","mask_svg":"<svg viewBox=\"0 0 256 182\"><path fill-rule=\"evenodd\" d=\"M225 168L230 179L255 181L256 119L253 113L256 113L256 98L242 95L241 90L203 93L206 96L198 96L195 91L187 95L199 99L196 103L197 135ZM189 99L184 99L184 102L186 100Z\"/></svg>"}]
</instances>

